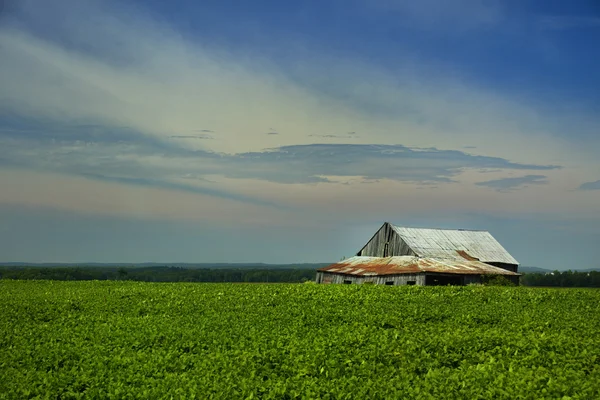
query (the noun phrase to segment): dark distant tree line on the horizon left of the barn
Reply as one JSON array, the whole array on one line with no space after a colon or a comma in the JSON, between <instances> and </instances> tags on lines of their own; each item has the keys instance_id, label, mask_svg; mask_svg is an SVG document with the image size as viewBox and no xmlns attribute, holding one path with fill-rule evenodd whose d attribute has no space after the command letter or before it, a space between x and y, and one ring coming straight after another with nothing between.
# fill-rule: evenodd
<instances>
[{"instance_id":1,"label":"dark distant tree line on the horizon left of the barn","mask_svg":"<svg viewBox=\"0 0 600 400\"><path fill-rule=\"evenodd\" d=\"M312 269L210 269L181 267L148 267L148 268L116 268L116 267L29 267L0 268L0 279L22 280L130 280L143 282L289 282L299 283L314 280Z\"/></svg>"}]
</instances>

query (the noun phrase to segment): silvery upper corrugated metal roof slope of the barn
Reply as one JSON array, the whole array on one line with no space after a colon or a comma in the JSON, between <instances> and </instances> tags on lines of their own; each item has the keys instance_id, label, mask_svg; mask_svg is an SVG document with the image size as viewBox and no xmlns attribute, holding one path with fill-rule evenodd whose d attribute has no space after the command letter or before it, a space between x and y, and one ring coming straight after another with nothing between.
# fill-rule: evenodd
<instances>
[{"instance_id":1,"label":"silvery upper corrugated metal roof slope of the barn","mask_svg":"<svg viewBox=\"0 0 600 400\"><path fill-rule=\"evenodd\" d=\"M391 226L402 240L421 257L448 259L473 258L483 262L519 264L486 231ZM460 253L458 253L459 251Z\"/></svg>"}]
</instances>

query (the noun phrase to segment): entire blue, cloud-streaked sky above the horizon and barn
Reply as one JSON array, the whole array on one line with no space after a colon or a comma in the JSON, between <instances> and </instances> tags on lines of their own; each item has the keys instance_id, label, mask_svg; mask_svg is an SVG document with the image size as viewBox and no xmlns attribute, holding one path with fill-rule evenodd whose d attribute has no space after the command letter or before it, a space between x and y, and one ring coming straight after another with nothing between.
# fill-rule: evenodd
<instances>
[{"instance_id":1,"label":"entire blue, cloud-streaked sky above the horizon and barn","mask_svg":"<svg viewBox=\"0 0 600 400\"><path fill-rule=\"evenodd\" d=\"M600 267L596 0L0 0L0 261Z\"/></svg>"}]
</instances>

